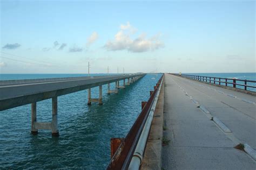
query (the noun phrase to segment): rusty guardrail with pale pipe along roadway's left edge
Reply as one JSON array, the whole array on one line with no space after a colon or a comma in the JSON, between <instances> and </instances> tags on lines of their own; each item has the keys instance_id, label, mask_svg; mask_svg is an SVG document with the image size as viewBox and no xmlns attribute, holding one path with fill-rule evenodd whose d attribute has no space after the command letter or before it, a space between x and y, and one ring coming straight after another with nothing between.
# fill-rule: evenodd
<instances>
[{"instance_id":1,"label":"rusty guardrail with pale pipe along roadway's left edge","mask_svg":"<svg viewBox=\"0 0 256 170\"><path fill-rule=\"evenodd\" d=\"M146 103L142 102L142 112L140 112L138 118L132 125L132 128L127 133L126 137L122 140L122 143L120 143L117 151L114 153L112 159L110 160L107 169L128 169L133 157L134 150L138 144L140 134L142 133L144 125L150 114L153 102L157 96L157 92L163 77L164 75L161 76L156 86L154 86L154 91L150 91L149 100Z\"/></svg>"}]
</instances>

